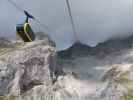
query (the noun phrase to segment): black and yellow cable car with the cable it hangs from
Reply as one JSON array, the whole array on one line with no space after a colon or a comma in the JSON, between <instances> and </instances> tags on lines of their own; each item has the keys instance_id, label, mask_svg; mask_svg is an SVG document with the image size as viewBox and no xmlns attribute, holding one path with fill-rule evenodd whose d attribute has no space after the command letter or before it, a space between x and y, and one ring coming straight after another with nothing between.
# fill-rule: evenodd
<instances>
[{"instance_id":1,"label":"black and yellow cable car with the cable it hangs from","mask_svg":"<svg viewBox=\"0 0 133 100\"><path fill-rule=\"evenodd\" d=\"M50 32L50 29L46 25L42 24L38 19L29 14L26 10L19 7L15 2L13 2L12 0L7 0L7 1L10 4L12 4L16 9L18 9L20 12L24 13L26 16L24 23L16 25L16 33L24 42L32 42L35 40L36 37L34 31L32 30L29 24L29 19L35 20L37 23L40 24L41 27L47 29L47 31Z\"/></svg>"}]
</instances>

